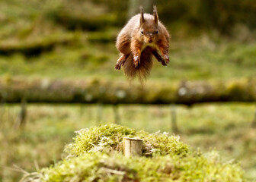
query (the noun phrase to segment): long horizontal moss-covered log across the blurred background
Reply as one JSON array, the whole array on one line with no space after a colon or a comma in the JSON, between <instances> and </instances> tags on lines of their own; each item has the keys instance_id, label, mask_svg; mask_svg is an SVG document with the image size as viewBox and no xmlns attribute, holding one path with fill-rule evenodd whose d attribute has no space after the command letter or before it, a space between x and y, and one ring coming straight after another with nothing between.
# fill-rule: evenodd
<instances>
[{"instance_id":1,"label":"long horizontal moss-covered log across the blurred background","mask_svg":"<svg viewBox=\"0 0 256 182\"><path fill-rule=\"evenodd\" d=\"M129 84L111 80L0 79L2 102L184 104L200 102L255 102L256 79L227 82Z\"/></svg>"}]
</instances>

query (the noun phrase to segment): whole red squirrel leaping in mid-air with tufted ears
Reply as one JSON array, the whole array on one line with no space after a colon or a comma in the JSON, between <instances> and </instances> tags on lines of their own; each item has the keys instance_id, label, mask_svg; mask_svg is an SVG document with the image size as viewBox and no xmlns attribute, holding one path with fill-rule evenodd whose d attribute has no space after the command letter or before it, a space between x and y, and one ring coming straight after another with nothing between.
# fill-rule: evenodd
<instances>
[{"instance_id":1,"label":"whole red squirrel leaping in mid-air with tufted ears","mask_svg":"<svg viewBox=\"0 0 256 182\"><path fill-rule=\"evenodd\" d=\"M115 69L123 66L128 79L138 76L141 82L146 80L152 67L152 55L164 66L169 63L169 39L168 31L158 20L156 6L153 15L144 14L141 6L140 14L133 16L117 36L116 46L121 56Z\"/></svg>"}]
</instances>

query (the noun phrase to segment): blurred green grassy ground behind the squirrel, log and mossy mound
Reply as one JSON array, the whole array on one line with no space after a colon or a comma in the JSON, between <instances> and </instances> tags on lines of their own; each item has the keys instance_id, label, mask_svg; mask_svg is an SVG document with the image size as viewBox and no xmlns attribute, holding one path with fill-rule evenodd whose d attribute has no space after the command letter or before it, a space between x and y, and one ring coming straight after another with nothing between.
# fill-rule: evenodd
<instances>
[{"instance_id":1,"label":"blurred green grassy ground behind the squirrel, log and mossy mound","mask_svg":"<svg viewBox=\"0 0 256 182\"><path fill-rule=\"evenodd\" d=\"M155 61L147 83L256 76L254 0L2 0L0 77L127 82L122 71L114 71L115 39L140 4L151 14L156 4L171 34L170 64ZM17 130L21 105L2 102L0 181L18 181L21 169L57 162L75 130L117 121L115 107L28 103L26 125ZM181 140L195 149L219 150L223 160L240 161L246 177L256 179L255 103L175 108ZM168 105L118 105L118 112L120 124L172 132Z\"/></svg>"}]
</instances>

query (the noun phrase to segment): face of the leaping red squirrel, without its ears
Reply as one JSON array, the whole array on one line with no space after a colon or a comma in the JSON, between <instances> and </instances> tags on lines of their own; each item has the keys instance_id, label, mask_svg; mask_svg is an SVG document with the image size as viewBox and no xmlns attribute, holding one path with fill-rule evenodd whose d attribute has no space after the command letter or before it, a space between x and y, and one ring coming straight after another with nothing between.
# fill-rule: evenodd
<instances>
[{"instance_id":1,"label":"face of the leaping red squirrel, without its ears","mask_svg":"<svg viewBox=\"0 0 256 182\"><path fill-rule=\"evenodd\" d=\"M144 26L140 28L140 32L139 32L143 42L146 42L146 43L156 42L156 39L159 33L157 26L152 26L152 24L148 26L146 24L143 24L143 25Z\"/></svg>"}]
</instances>

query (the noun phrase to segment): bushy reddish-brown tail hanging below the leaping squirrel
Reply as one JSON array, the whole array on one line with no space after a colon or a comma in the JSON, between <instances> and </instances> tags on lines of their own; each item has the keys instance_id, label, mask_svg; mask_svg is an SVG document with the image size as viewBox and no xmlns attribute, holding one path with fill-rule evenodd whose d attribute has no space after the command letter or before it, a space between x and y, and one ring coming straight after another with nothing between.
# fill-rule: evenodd
<instances>
[{"instance_id":1,"label":"bushy reddish-brown tail hanging below the leaping squirrel","mask_svg":"<svg viewBox=\"0 0 256 182\"><path fill-rule=\"evenodd\" d=\"M123 71L129 81L135 77L139 77L140 83L143 83L149 76L152 68L152 52L149 48L142 51L140 56L140 64L135 67L133 64L133 54L130 54L123 64Z\"/></svg>"}]
</instances>

